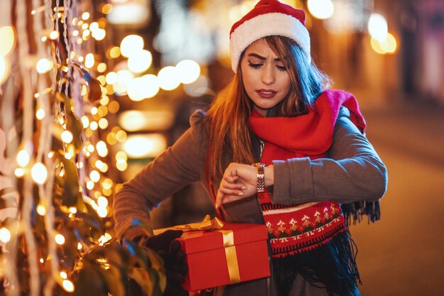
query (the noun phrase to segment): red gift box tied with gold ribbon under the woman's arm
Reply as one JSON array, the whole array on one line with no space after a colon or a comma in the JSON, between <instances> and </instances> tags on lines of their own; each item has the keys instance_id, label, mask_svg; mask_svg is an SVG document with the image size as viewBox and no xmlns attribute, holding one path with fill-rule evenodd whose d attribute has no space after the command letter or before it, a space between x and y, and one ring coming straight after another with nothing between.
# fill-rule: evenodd
<instances>
[{"instance_id":1,"label":"red gift box tied with gold ribbon under the woman's arm","mask_svg":"<svg viewBox=\"0 0 444 296\"><path fill-rule=\"evenodd\" d=\"M267 227L223 222L221 229L188 231L177 239L186 254L184 290L204 290L270 276ZM159 229L159 234L166 229Z\"/></svg>"}]
</instances>

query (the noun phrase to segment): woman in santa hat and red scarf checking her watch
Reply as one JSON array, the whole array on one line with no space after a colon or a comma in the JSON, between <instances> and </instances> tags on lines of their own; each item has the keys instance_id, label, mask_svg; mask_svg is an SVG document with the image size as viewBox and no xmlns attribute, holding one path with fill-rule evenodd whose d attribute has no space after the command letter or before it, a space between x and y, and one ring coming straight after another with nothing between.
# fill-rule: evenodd
<instances>
[{"instance_id":1,"label":"woman in santa hat and red scarf checking her watch","mask_svg":"<svg viewBox=\"0 0 444 296\"><path fill-rule=\"evenodd\" d=\"M114 199L116 231L126 239L143 238L131 219L149 225L151 207L196 180L221 218L266 224L272 285L252 280L226 286L224 295L359 295L345 222L378 218L387 172L363 135L353 95L326 90L304 17L279 1L259 1L235 23L231 84ZM179 235L144 241L167 251ZM169 286L180 292L173 278Z\"/></svg>"}]
</instances>

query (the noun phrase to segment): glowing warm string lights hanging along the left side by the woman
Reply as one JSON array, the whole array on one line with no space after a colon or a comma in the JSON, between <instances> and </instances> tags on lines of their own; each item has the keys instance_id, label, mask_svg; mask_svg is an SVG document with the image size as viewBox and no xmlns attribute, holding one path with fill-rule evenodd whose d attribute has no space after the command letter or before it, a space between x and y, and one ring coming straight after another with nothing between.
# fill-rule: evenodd
<instances>
[{"instance_id":1,"label":"glowing warm string lights hanging along the left side by the woman","mask_svg":"<svg viewBox=\"0 0 444 296\"><path fill-rule=\"evenodd\" d=\"M44 296L52 296L61 289L68 293L82 289L79 274L97 264L100 268L120 270L106 255L94 257L98 247L104 248L105 253L109 248L114 248L112 252L121 248L118 254L122 258L135 256L112 239L113 225L109 223L109 198L121 187L109 176L126 170L128 163L126 155L114 160L111 147L127 138L118 126L110 128L113 114L120 108L112 85L106 82L112 67L106 64L100 50L94 54L89 50L92 43L104 39L106 20L93 20L91 0L75 4L56 0L55 7L51 1L45 1L43 6L41 3L33 0L32 11L27 11L26 1L16 2L16 15L21 16L15 24L20 32L17 34L20 72L13 70L11 77L21 78L18 83L21 82L23 90L13 100L5 100L13 102L7 109L10 114L16 114L16 106L23 108L23 116L19 118L23 119L23 133L21 129L17 131L20 143L15 148L12 159L16 161L11 168L16 177L13 180L18 181L14 187L21 202L18 215L21 227L13 229L9 224L0 224L0 240L11 249L1 259L7 260L5 277L11 283L6 293L13 296L23 290L30 296L38 296L40 291ZM28 13L30 17L26 17ZM32 50L28 40L35 42ZM100 46L95 44L94 48ZM150 53L147 50L140 53L150 57L150 64ZM11 57L15 54L11 53ZM147 69L138 68L138 71ZM94 75L99 77L94 79ZM10 89L6 87L5 93L10 94ZM16 99L23 104L16 104ZM1 115L5 117L3 110ZM13 120L9 120L9 126L13 126ZM72 241L79 243L73 246ZM23 245L26 250L19 248ZM155 254L150 258L155 259ZM126 270L135 268L136 261L125 262L131 264ZM18 273L16 266L26 272ZM160 269L150 269L165 279ZM40 273L46 270L50 274L42 277ZM159 285L148 274L143 275L143 281L150 281L153 288ZM124 276L116 275L115 281ZM109 278L102 280L106 282Z\"/></svg>"}]
</instances>

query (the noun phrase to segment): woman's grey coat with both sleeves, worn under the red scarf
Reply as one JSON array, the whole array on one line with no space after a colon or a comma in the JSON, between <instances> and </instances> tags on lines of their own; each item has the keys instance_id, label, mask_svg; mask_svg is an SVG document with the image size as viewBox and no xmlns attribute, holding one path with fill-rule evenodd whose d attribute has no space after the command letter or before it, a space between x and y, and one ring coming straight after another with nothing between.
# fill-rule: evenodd
<instances>
[{"instance_id":1,"label":"woman's grey coat with both sleeves, worn under the red scarf","mask_svg":"<svg viewBox=\"0 0 444 296\"><path fill-rule=\"evenodd\" d=\"M126 182L116 194L113 207L119 236L128 229L133 218L149 225L150 208L190 182L201 180L209 190L204 174L207 148L204 116L203 111L194 112L190 118L191 127L179 140ZM384 164L347 116L340 116L336 121L333 144L326 158L294 158L274 161L273 165L272 202L277 204L374 201L381 198L387 188ZM218 184L215 186L217 190ZM222 210L226 221L263 224L256 197L225 204ZM126 238L133 239L140 234L143 231L133 228L126 231ZM274 283L270 286L270 295L276 295ZM224 295L267 295L267 280L229 285ZM327 293L325 289L296 277L290 295Z\"/></svg>"}]
</instances>

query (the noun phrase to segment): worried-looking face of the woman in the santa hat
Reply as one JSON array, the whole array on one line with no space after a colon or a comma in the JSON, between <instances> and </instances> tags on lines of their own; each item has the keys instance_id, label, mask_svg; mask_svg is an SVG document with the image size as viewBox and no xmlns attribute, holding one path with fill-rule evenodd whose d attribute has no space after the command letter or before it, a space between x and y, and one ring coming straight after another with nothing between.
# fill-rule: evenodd
<instances>
[{"instance_id":1,"label":"worried-looking face of the woman in the santa hat","mask_svg":"<svg viewBox=\"0 0 444 296\"><path fill-rule=\"evenodd\" d=\"M248 46L240 61L240 68L245 91L255 104L253 108L262 116L279 104L291 88L284 61L273 53L263 39Z\"/></svg>"}]
</instances>

